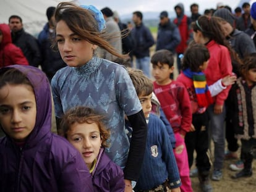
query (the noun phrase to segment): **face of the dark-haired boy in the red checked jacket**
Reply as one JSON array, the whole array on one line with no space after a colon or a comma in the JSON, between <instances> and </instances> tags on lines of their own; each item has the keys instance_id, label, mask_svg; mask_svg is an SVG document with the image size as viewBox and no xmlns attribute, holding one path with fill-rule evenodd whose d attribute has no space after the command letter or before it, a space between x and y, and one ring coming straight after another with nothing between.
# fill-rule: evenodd
<instances>
[{"instance_id":1,"label":"face of the dark-haired boy in the red checked jacket","mask_svg":"<svg viewBox=\"0 0 256 192\"><path fill-rule=\"evenodd\" d=\"M166 85L170 81L170 74L173 73L174 67L169 68L168 64L153 65L152 75L158 85Z\"/></svg>"}]
</instances>

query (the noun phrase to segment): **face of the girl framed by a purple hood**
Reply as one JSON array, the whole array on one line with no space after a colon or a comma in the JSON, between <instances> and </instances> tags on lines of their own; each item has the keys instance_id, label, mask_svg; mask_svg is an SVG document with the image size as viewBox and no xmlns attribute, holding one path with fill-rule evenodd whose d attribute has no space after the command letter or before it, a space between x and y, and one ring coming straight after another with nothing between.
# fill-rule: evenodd
<instances>
[{"instance_id":1,"label":"face of the girl framed by a purple hood","mask_svg":"<svg viewBox=\"0 0 256 192\"><path fill-rule=\"evenodd\" d=\"M14 141L25 141L35 127L36 101L29 85L5 85L0 89L0 124Z\"/></svg>"}]
</instances>

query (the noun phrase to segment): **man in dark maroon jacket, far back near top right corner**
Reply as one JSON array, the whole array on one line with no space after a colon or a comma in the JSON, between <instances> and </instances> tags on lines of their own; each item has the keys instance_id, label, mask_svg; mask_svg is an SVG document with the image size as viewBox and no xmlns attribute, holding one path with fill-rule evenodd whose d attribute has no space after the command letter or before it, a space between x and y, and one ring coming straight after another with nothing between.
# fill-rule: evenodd
<instances>
[{"instance_id":1,"label":"man in dark maroon jacket, far back near top right corner","mask_svg":"<svg viewBox=\"0 0 256 192\"><path fill-rule=\"evenodd\" d=\"M236 28L241 31L247 30L250 27L250 4L249 2L244 2L242 4L242 10L244 13L236 21Z\"/></svg>"}]
</instances>

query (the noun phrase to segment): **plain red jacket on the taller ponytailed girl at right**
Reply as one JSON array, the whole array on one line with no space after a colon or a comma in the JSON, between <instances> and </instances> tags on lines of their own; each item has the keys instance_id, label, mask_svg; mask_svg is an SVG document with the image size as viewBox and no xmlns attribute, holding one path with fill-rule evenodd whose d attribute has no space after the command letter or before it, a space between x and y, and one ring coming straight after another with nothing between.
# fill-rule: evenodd
<instances>
[{"instance_id":1,"label":"plain red jacket on the taller ponytailed girl at right","mask_svg":"<svg viewBox=\"0 0 256 192\"><path fill-rule=\"evenodd\" d=\"M204 73L207 78L207 84L212 85L219 79L226 77L227 75L232 75L231 57L228 48L217 44L213 40L211 40L206 46L210 52L210 60ZM224 104L224 101L228 97L230 88L231 86L228 86L214 97L216 104Z\"/></svg>"}]
</instances>

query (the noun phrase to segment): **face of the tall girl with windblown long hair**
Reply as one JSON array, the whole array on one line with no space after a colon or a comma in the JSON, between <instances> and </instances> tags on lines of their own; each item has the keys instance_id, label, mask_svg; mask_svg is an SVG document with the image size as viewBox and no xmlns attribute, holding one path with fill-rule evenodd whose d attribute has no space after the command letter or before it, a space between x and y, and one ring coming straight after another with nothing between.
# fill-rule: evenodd
<instances>
[{"instance_id":1,"label":"face of the tall girl with windblown long hair","mask_svg":"<svg viewBox=\"0 0 256 192\"><path fill-rule=\"evenodd\" d=\"M63 61L70 67L85 65L92 59L93 50L96 49L95 44L75 35L64 20L59 21L56 25L56 41Z\"/></svg>"}]
</instances>

